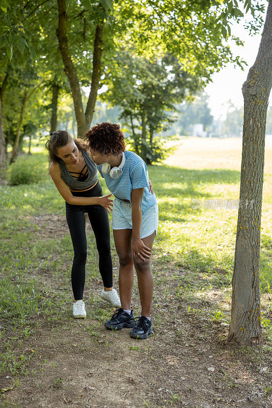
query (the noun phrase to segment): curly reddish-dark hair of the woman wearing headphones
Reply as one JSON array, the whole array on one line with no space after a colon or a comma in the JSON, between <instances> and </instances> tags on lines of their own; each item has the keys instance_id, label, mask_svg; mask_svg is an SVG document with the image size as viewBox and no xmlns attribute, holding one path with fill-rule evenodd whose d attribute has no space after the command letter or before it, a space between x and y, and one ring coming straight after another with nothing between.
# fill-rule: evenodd
<instances>
[{"instance_id":1,"label":"curly reddish-dark hair of the woman wearing headphones","mask_svg":"<svg viewBox=\"0 0 272 408\"><path fill-rule=\"evenodd\" d=\"M117 123L102 122L84 135L88 146L104 155L118 155L126 149L124 135Z\"/></svg>"}]
</instances>

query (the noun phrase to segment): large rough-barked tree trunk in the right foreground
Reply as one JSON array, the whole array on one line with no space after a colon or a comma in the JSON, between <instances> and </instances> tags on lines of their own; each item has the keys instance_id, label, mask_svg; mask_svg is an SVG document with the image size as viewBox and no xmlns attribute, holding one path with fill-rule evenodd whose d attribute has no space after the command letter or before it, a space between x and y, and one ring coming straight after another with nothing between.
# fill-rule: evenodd
<instances>
[{"instance_id":1,"label":"large rough-barked tree trunk in the right foreground","mask_svg":"<svg viewBox=\"0 0 272 408\"><path fill-rule=\"evenodd\" d=\"M232 277L228 347L262 344L260 317L260 230L265 124L272 86L272 0L254 65L242 86L244 119L240 201Z\"/></svg>"}]
</instances>

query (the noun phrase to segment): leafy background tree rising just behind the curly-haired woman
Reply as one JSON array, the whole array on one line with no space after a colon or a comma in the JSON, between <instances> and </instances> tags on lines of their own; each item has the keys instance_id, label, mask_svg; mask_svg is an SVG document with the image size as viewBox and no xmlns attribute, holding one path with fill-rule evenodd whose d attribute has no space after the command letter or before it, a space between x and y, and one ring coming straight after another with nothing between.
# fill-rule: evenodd
<instances>
[{"instance_id":1,"label":"leafy background tree rising just behind the curly-haired woman","mask_svg":"<svg viewBox=\"0 0 272 408\"><path fill-rule=\"evenodd\" d=\"M203 85L173 55L151 60L133 58L125 51L116 59L114 75L106 75L104 83L108 86L104 98L121 108L120 119L131 146L147 164L167 157L171 150L158 135L173 122L175 104L189 99Z\"/></svg>"}]
</instances>

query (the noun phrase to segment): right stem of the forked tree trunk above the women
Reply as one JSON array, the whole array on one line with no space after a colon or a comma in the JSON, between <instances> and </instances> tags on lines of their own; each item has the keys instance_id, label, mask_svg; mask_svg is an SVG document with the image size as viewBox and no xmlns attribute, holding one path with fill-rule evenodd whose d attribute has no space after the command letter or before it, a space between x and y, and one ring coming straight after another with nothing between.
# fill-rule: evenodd
<instances>
[{"instance_id":1,"label":"right stem of the forked tree trunk above the women","mask_svg":"<svg viewBox=\"0 0 272 408\"><path fill-rule=\"evenodd\" d=\"M92 83L91 83L91 91L90 91L90 95L89 95L88 103L86 107L86 112L85 112L86 124L88 126L88 129L90 129L93 115L94 115L94 108L95 108L95 103L97 99L97 92L98 92L99 81L100 81L100 76L101 76L103 26L104 26L104 22L97 24L96 30L95 30Z\"/></svg>"}]
</instances>

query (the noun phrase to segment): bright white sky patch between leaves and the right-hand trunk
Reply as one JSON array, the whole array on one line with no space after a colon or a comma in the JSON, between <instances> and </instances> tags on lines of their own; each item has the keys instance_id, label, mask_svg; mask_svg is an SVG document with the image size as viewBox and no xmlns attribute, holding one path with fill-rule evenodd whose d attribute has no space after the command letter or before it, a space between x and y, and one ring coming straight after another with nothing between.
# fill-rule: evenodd
<instances>
[{"instance_id":1,"label":"bright white sky patch between leaves and the right-hand trunk","mask_svg":"<svg viewBox=\"0 0 272 408\"><path fill-rule=\"evenodd\" d=\"M262 2L260 3L266 3ZM264 16L265 18L265 16ZM220 72L215 72L212 75L212 83L208 84L205 92L209 95L209 107L214 119L224 119L227 111L226 102L231 99L233 104L240 108L243 106L242 84L246 81L249 68L254 64L258 54L258 49L261 40L261 33L250 36L248 31L243 28L243 25L234 23L232 25L232 34L244 41L244 46L237 46L234 42L230 42L231 50L236 56L240 56L248 63L244 67L234 68L233 64L228 64ZM272 98L270 95L269 105L272 106Z\"/></svg>"}]
</instances>

